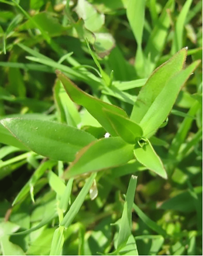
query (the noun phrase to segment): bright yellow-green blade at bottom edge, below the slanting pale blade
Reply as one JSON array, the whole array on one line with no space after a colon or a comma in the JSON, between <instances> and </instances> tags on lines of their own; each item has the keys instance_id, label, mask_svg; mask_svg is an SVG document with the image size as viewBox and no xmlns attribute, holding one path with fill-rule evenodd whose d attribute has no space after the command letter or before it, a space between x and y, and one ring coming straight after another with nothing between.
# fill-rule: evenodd
<instances>
[{"instance_id":1,"label":"bright yellow-green blade at bottom edge, below the slanting pale blade","mask_svg":"<svg viewBox=\"0 0 203 256\"><path fill-rule=\"evenodd\" d=\"M64 243L64 234L63 234L64 227L58 227L54 231L51 251L49 255L61 255L63 243Z\"/></svg>"}]
</instances>

